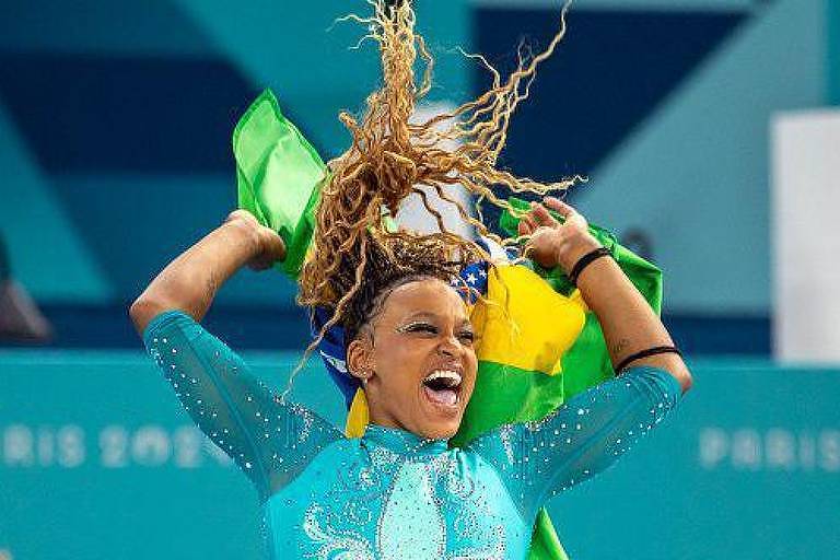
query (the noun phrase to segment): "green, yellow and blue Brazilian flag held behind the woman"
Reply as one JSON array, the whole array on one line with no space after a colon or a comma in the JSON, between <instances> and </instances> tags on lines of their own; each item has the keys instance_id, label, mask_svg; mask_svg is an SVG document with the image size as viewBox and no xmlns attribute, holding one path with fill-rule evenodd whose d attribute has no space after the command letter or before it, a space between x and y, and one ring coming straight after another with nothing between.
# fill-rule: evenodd
<instances>
[{"instance_id":1,"label":"green, yellow and blue Brazilian flag held behind the woman","mask_svg":"<svg viewBox=\"0 0 840 560\"><path fill-rule=\"evenodd\" d=\"M277 98L268 90L236 126L233 150L240 208L249 210L260 223L282 236L287 258L277 266L296 278L315 229L314 209L322 185L329 179L328 170L310 142L282 115ZM525 205L514 199L511 202ZM509 235L515 235L517 220L505 213L500 225ZM591 226L591 232L610 249L658 312L660 270L616 243L606 230ZM488 248L494 257L505 256L501 247ZM462 271L459 283L482 298L468 302L479 339L478 375L452 445L465 445L504 423L539 420L570 395L612 375L600 325L561 271L537 266L532 269L521 264L477 262ZM329 316L328 310L314 310L314 334ZM326 332L318 351L345 397L346 433L361 436L369 421L368 404L361 385L347 371L341 327ZM545 509L535 522L529 558L567 558Z\"/></svg>"}]
</instances>

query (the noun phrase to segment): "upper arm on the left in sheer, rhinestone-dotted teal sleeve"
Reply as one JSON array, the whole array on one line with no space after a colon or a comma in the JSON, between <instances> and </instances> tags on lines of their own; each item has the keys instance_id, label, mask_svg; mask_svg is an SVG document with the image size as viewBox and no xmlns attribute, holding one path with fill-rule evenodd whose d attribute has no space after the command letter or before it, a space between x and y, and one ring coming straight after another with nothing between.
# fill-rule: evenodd
<instances>
[{"instance_id":1,"label":"upper arm on the left in sheer, rhinestone-dotted teal sleeve","mask_svg":"<svg viewBox=\"0 0 840 560\"><path fill-rule=\"evenodd\" d=\"M154 317L144 342L192 420L262 495L340 438L311 411L282 402L238 354L183 312Z\"/></svg>"}]
</instances>

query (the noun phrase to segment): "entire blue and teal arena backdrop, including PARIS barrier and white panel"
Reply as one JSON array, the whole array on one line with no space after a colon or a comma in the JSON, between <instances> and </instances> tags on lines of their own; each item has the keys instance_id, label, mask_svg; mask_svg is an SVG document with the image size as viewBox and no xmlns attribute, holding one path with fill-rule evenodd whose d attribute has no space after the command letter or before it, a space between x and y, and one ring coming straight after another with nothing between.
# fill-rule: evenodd
<instances>
[{"instance_id":1,"label":"entire blue and teal arena backdrop, including PARIS barrier and white panel","mask_svg":"<svg viewBox=\"0 0 840 560\"><path fill-rule=\"evenodd\" d=\"M416 0L433 101L487 84L553 0ZM265 88L325 158L377 58L361 1L0 3L0 559L260 553L256 494L180 412L127 306L235 203ZM329 31L328 31L329 28ZM840 557L840 1L580 0L504 163L665 271L693 366L678 416L551 504L573 559ZM209 328L276 385L294 287L243 272ZM295 395L337 423L313 362Z\"/></svg>"}]
</instances>

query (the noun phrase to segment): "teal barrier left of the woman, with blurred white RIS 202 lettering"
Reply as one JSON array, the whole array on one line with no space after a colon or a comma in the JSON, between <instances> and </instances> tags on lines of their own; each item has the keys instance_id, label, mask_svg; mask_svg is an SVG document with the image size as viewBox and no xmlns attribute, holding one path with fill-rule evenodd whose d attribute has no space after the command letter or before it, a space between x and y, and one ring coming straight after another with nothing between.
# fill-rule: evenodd
<instances>
[{"instance_id":1,"label":"teal barrier left of the woman, with blurred white RIS 202 lettering","mask_svg":"<svg viewBox=\"0 0 840 560\"><path fill-rule=\"evenodd\" d=\"M269 382L296 355L256 357ZM338 420L326 375L294 396ZM331 398L330 397L335 397ZM261 558L257 494L140 354L0 357L0 551L14 559Z\"/></svg>"}]
</instances>

